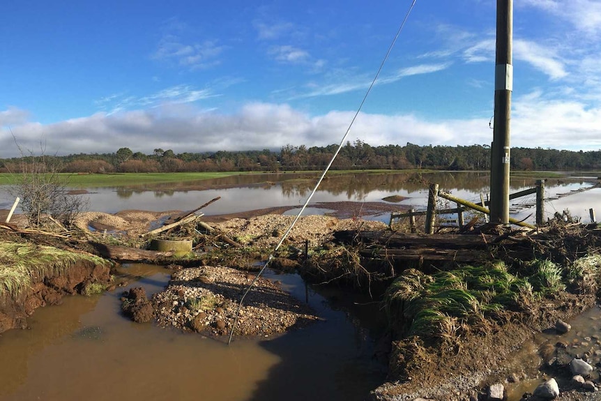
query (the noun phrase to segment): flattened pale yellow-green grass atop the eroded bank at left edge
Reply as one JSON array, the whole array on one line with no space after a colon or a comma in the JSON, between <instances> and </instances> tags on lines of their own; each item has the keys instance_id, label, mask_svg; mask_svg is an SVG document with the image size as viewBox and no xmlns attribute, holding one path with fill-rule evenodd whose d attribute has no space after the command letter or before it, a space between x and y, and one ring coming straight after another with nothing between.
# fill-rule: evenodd
<instances>
[{"instance_id":1,"label":"flattened pale yellow-green grass atop the eroded bank at left edge","mask_svg":"<svg viewBox=\"0 0 601 401\"><path fill-rule=\"evenodd\" d=\"M0 241L0 295L8 293L15 297L29 289L34 278L65 273L82 261L107 263L100 257L52 246Z\"/></svg>"}]
</instances>

